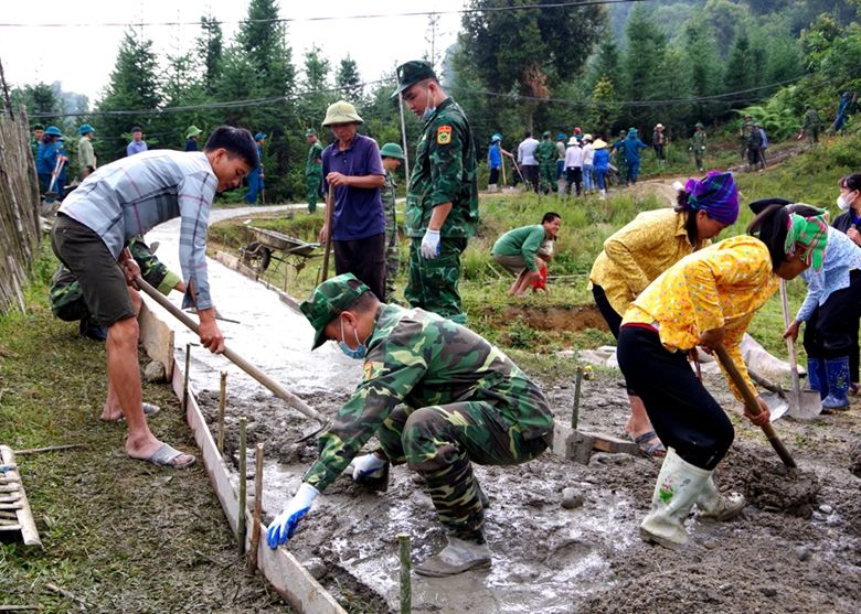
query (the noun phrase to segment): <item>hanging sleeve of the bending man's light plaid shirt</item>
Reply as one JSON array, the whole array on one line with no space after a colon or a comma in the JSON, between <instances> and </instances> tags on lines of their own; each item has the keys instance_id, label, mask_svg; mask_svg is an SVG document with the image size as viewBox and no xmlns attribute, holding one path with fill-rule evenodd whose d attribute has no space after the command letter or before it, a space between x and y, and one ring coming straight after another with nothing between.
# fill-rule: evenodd
<instances>
[{"instance_id":1,"label":"hanging sleeve of the bending man's light plaid shirt","mask_svg":"<svg viewBox=\"0 0 861 614\"><path fill-rule=\"evenodd\" d=\"M213 306L206 276L206 231L216 186L217 180L211 173L188 175L178 186L179 256L187 287L182 300L183 309L196 306L199 310L204 310Z\"/></svg>"}]
</instances>

